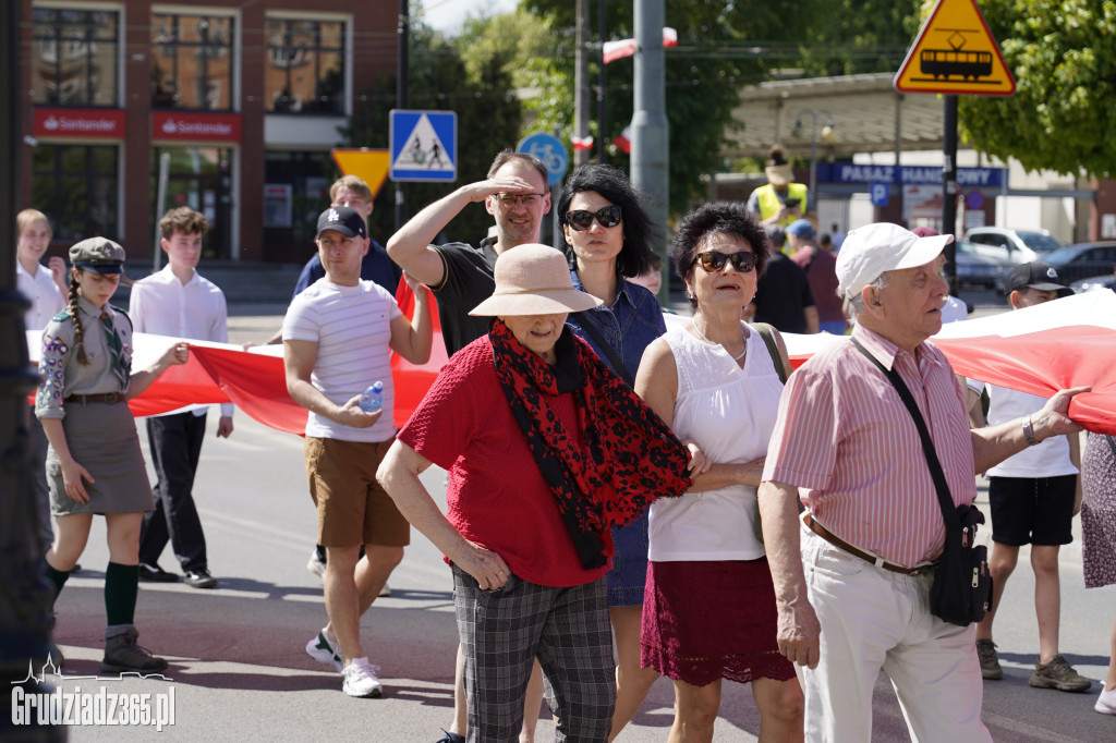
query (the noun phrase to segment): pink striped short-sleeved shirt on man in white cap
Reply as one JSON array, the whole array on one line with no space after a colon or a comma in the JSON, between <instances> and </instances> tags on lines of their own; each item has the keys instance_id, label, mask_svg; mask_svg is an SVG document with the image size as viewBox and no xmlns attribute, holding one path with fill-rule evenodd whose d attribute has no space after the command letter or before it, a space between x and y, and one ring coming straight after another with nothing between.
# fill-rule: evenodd
<instances>
[{"instance_id":1,"label":"pink striped short-sleeved shirt on man in white cap","mask_svg":"<svg viewBox=\"0 0 1116 743\"><path fill-rule=\"evenodd\" d=\"M964 398L953 369L923 342L912 357L857 326L853 336L895 365L918 404L954 503L977 498ZM912 567L936 559L945 525L911 414L853 344L834 344L787 384L763 480L805 489L802 502L845 541Z\"/></svg>"}]
</instances>

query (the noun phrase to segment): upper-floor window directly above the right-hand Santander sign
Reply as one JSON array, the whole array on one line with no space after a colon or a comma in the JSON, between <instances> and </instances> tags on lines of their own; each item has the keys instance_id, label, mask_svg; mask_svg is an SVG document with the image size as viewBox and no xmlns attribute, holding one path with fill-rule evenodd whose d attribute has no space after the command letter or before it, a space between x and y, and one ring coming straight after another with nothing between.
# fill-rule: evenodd
<instances>
[{"instance_id":1,"label":"upper-floor window directly above the right-hand Santander sign","mask_svg":"<svg viewBox=\"0 0 1116 743\"><path fill-rule=\"evenodd\" d=\"M153 13L151 105L232 109L231 16Z\"/></svg>"}]
</instances>

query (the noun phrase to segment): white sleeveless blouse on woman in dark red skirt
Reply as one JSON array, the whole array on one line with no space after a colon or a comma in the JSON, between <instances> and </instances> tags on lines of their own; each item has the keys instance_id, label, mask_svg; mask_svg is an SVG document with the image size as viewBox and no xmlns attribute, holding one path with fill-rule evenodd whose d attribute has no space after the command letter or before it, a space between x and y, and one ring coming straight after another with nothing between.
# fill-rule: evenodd
<instances>
[{"instance_id":1,"label":"white sleeveless blouse on woman in dark red skirt","mask_svg":"<svg viewBox=\"0 0 1116 743\"><path fill-rule=\"evenodd\" d=\"M711 346L682 327L663 338L679 374L672 428L715 463L743 464L767 455L782 383L760 334L749 328L741 368L721 345ZM648 558L756 560L756 489L731 485L655 501L650 511Z\"/></svg>"}]
</instances>

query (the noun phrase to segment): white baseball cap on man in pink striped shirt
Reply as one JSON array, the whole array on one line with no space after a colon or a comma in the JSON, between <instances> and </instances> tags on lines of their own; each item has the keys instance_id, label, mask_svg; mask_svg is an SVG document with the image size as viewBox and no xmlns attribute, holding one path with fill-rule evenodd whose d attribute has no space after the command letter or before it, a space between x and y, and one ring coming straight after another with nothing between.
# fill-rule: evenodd
<instances>
[{"instance_id":1,"label":"white baseball cap on man in pink striped shirt","mask_svg":"<svg viewBox=\"0 0 1116 743\"><path fill-rule=\"evenodd\" d=\"M837 253L837 293L856 297L881 273L925 266L951 242L952 234L920 238L887 222L857 228L846 235Z\"/></svg>"}]
</instances>

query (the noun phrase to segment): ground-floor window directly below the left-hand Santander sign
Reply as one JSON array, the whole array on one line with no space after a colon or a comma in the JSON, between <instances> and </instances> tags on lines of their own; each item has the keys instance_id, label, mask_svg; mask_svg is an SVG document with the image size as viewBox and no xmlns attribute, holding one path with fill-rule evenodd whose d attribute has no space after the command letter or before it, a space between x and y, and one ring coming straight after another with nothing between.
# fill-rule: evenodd
<instances>
[{"instance_id":1,"label":"ground-floor window directly below the left-hand Santander sign","mask_svg":"<svg viewBox=\"0 0 1116 743\"><path fill-rule=\"evenodd\" d=\"M31 203L55 240L121 239L116 145L48 145L32 151Z\"/></svg>"}]
</instances>

